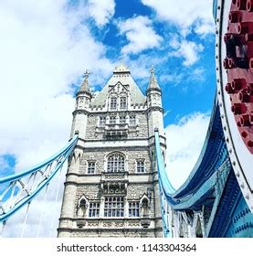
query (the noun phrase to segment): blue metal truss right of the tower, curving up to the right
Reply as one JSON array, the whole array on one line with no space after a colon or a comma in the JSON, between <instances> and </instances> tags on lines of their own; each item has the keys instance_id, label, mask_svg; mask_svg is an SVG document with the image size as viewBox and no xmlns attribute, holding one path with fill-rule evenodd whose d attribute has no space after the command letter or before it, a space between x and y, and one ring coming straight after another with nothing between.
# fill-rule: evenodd
<instances>
[{"instance_id":1,"label":"blue metal truss right of the tower, curving up to the right","mask_svg":"<svg viewBox=\"0 0 253 256\"><path fill-rule=\"evenodd\" d=\"M155 148L165 237L172 234L166 217L171 214L167 205L178 212L209 208L205 231L208 237L253 237L253 214L229 160L217 101L201 154L184 185L176 191L166 175L158 130L155 130Z\"/></svg>"}]
</instances>

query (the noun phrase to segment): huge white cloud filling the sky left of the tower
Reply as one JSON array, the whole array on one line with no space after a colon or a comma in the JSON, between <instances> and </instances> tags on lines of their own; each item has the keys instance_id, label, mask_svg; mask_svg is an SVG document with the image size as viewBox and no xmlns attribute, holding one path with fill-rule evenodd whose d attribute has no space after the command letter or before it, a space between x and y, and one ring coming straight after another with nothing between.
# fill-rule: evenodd
<instances>
[{"instance_id":1,"label":"huge white cloud filling the sky left of the tower","mask_svg":"<svg viewBox=\"0 0 253 256\"><path fill-rule=\"evenodd\" d=\"M67 3L0 3L0 155L15 155L17 171L67 144L75 101L70 85L83 69L91 69L100 79L112 70L106 48L91 37L83 22L87 18L84 6L69 9ZM37 218L39 208L35 211ZM18 225L11 222L8 235L16 236ZM55 229L57 225L58 220Z\"/></svg>"}]
</instances>

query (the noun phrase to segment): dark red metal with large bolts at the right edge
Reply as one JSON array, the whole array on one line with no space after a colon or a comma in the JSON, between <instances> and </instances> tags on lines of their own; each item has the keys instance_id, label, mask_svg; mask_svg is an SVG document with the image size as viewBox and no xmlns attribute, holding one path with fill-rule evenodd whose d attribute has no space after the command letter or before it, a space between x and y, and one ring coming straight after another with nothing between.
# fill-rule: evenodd
<instances>
[{"instance_id":1,"label":"dark red metal with large bolts at the right edge","mask_svg":"<svg viewBox=\"0 0 253 256\"><path fill-rule=\"evenodd\" d=\"M241 139L253 154L253 0L232 0L224 41L225 90Z\"/></svg>"}]
</instances>

